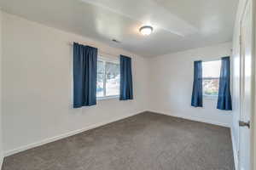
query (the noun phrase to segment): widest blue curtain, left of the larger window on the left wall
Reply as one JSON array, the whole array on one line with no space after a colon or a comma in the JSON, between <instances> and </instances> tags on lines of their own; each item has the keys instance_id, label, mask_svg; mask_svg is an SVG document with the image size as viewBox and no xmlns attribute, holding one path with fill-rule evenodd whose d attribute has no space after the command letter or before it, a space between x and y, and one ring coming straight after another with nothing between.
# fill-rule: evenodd
<instances>
[{"instance_id":1,"label":"widest blue curtain, left of the larger window on the left wall","mask_svg":"<svg viewBox=\"0 0 256 170\"><path fill-rule=\"evenodd\" d=\"M97 48L73 43L73 107L96 105Z\"/></svg>"}]
</instances>

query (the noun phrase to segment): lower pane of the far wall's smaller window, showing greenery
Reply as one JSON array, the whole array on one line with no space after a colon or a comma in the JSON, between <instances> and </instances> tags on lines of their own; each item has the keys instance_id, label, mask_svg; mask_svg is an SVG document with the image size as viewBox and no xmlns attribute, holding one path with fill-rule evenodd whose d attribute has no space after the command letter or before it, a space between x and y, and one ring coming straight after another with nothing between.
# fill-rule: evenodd
<instances>
[{"instance_id":1,"label":"lower pane of the far wall's smaller window, showing greenery","mask_svg":"<svg viewBox=\"0 0 256 170\"><path fill-rule=\"evenodd\" d=\"M218 96L218 78L203 79L203 95Z\"/></svg>"}]
</instances>

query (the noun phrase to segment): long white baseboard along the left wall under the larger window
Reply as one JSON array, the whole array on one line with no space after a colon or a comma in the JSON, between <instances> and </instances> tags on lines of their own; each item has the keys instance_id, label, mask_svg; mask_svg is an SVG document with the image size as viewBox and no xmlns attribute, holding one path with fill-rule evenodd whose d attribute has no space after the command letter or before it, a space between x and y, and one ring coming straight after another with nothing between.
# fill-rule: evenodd
<instances>
[{"instance_id":1,"label":"long white baseboard along the left wall under the larger window","mask_svg":"<svg viewBox=\"0 0 256 170\"><path fill-rule=\"evenodd\" d=\"M59 139L64 139L64 138L73 136L73 135L78 134L78 133L83 133L83 132L88 131L90 129L93 129L93 128L96 128L96 127L101 127L101 126L107 125L108 123L111 123L111 122L117 122L119 120L125 119L125 118L130 117L130 116L135 116L135 115L143 113L143 112L145 112L145 111L139 111L137 113L115 117L115 118L113 118L111 120L108 120L106 122L99 122L99 123L90 125L88 127L84 127L84 128L78 129L78 130L74 130L72 132L62 133L62 134L60 134L58 136L55 136L55 137L51 137L51 138L48 138L48 139L43 139L41 141L38 141L38 142L35 142L35 143L32 143L32 144L26 144L26 145L21 146L19 148L15 148L14 150L7 150L7 151L4 151L4 156L11 156L11 155L19 153L21 151L29 150L29 149L38 147L38 146L43 145L43 144L48 144L50 142L54 142L54 141L59 140Z\"/></svg>"}]
</instances>

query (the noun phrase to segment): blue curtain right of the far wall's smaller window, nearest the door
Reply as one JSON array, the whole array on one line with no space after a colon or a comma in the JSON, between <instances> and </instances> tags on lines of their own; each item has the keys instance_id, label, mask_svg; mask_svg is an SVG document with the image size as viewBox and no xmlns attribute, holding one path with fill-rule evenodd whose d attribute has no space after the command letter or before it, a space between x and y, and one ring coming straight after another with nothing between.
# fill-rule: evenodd
<instances>
[{"instance_id":1,"label":"blue curtain right of the far wall's smaller window, nearest the door","mask_svg":"<svg viewBox=\"0 0 256 170\"><path fill-rule=\"evenodd\" d=\"M232 111L230 94L230 57L221 58L217 109Z\"/></svg>"}]
</instances>

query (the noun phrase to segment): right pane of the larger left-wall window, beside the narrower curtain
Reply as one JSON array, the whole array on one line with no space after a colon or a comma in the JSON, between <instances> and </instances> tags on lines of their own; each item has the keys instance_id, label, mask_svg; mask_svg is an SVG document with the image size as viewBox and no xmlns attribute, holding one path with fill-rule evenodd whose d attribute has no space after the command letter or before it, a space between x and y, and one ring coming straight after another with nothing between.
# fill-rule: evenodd
<instances>
[{"instance_id":1,"label":"right pane of the larger left-wall window, beside the narrower curtain","mask_svg":"<svg viewBox=\"0 0 256 170\"><path fill-rule=\"evenodd\" d=\"M119 64L106 62L106 96L119 95Z\"/></svg>"}]
</instances>

